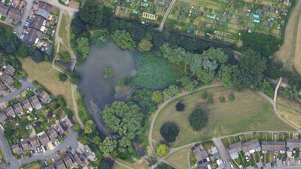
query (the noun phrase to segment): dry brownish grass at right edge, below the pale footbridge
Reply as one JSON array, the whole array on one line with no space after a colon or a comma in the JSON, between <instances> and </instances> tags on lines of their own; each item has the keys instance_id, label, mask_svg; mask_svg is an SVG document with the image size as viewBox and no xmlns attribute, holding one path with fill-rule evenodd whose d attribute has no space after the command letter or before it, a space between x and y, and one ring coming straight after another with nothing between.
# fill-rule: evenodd
<instances>
[{"instance_id":1,"label":"dry brownish grass at right edge, below the pale footbridge","mask_svg":"<svg viewBox=\"0 0 301 169\"><path fill-rule=\"evenodd\" d=\"M300 99L295 102L291 102L282 97L277 98L277 111L283 119L292 125L301 128L301 108Z\"/></svg>"}]
</instances>

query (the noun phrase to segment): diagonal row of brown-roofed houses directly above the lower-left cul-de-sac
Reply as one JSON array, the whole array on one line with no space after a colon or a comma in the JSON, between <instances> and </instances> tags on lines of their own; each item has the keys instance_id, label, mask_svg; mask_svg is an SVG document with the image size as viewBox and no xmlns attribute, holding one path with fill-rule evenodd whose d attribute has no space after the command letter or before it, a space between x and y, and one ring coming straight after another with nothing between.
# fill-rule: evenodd
<instances>
[{"instance_id":1,"label":"diagonal row of brown-roofed houses directly above the lower-left cul-de-sac","mask_svg":"<svg viewBox=\"0 0 301 169\"><path fill-rule=\"evenodd\" d=\"M42 131L36 136L29 137L28 139L21 139L18 144L13 145L11 148L13 153L22 154L23 151L30 151L37 147L46 146L48 142L53 142L60 135L63 135L65 131L68 131L74 122L69 117L65 117L60 120L55 126L49 127L47 131Z\"/></svg>"}]
</instances>

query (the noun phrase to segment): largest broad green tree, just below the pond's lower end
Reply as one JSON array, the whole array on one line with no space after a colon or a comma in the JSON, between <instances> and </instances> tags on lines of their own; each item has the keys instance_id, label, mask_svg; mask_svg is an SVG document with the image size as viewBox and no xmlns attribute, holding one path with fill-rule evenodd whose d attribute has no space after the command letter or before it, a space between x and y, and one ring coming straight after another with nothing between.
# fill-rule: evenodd
<instances>
[{"instance_id":1,"label":"largest broad green tree, just below the pond's lower end","mask_svg":"<svg viewBox=\"0 0 301 169\"><path fill-rule=\"evenodd\" d=\"M121 136L134 139L137 133L142 129L143 114L140 108L132 102L113 102L105 105L103 118L112 133L118 133Z\"/></svg>"}]
</instances>

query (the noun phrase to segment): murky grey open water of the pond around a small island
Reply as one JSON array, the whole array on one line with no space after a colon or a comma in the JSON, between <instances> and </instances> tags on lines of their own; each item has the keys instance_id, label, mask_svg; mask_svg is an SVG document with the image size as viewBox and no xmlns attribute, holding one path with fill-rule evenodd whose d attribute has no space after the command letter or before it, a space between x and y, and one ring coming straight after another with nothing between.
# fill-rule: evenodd
<instances>
[{"instance_id":1,"label":"murky grey open water of the pond around a small island","mask_svg":"<svg viewBox=\"0 0 301 169\"><path fill-rule=\"evenodd\" d=\"M106 80L102 70L105 65L111 67L114 72L113 77ZM76 67L75 70L81 76L78 87L85 95L88 111L98 123L99 120L95 118L101 118L100 114L106 104L115 101L116 97L130 93L130 88L117 86L120 78L135 74L135 62L130 51L121 50L113 42L109 42L102 49L91 46L85 64ZM100 127L101 124L98 123L97 126L104 130Z\"/></svg>"}]
</instances>

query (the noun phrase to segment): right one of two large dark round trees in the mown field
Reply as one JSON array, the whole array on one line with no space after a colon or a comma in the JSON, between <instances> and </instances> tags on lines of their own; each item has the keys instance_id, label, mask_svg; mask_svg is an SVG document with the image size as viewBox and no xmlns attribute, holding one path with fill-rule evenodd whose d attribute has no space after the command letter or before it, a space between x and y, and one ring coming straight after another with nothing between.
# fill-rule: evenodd
<instances>
[{"instance_id":1,"label":"right one of two large dark round trees in the mown field","mask_svg":"<svg viewBox=\"0 0 301 169\"><path fill-rule=\"evenodd\" d=\"M188 120L194 131L201 131L207 124L208 117L204 110L196 109L189 115Z\"/></svg>"}]
</instances>

